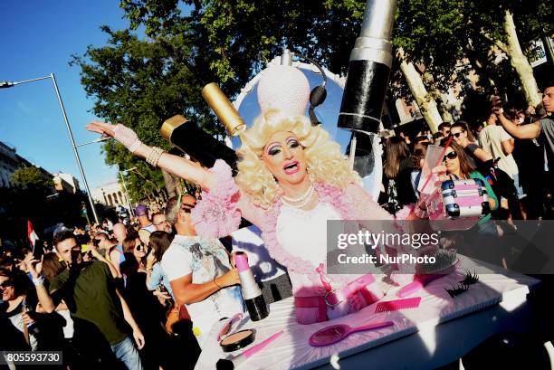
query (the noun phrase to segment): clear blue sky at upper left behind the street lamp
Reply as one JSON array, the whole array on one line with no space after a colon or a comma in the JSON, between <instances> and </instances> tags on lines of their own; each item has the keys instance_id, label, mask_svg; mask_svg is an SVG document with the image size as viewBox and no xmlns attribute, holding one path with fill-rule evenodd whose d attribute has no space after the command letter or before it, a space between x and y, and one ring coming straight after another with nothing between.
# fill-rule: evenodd
<instances>
[{"instance_id":1,"label":"clear blue sky at upper left behind the street lamp","mask_svg":"<svg viewBox=\"0 0 554 370\"><path fill-rule=\"evenodd\" d=\"M76 143L99 136L85 130L96 119L81 87L78 67L70 67L71 55L83 54L87 45L100 46L107 36L101 24L126 28L116 0L33 0L0 2L0 81L23 81L53 72L72 126ZM62 111L50 80L0 90L0 140L17 153L50 172L68 172L81 183ZM114 168L106 168L100 144L79 148L82 166L91 188L115 180Z\"/></svg>"}]
</instances>

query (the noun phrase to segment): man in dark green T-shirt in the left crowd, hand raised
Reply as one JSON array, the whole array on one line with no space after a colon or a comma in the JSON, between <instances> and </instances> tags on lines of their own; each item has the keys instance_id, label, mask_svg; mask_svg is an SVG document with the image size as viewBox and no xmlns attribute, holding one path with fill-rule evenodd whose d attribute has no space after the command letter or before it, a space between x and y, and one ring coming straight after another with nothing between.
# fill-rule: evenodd
<instances>
[{"instance_id":1,"label":"man in dark green T-shirt in the left crowd, hand raised","mask_svg":"<svg viewBox=\"0 0 554 370\"><path fill-rule=\"evenodd\" d=\"M103 261L83 262L81 247L72 232L59 232L54 237L58 255L69 266L50 283L50 292L43 286L43 278L31 269L33 283L41 305L52 312L64 299L73 318L94 324L110 343L113 354L129 370L142 369L139 352L127 334L127 324L139 346L144 337L113 281L110 267ZM127 322L127 324L126 324Z\"/></svg>"}]
</instances>

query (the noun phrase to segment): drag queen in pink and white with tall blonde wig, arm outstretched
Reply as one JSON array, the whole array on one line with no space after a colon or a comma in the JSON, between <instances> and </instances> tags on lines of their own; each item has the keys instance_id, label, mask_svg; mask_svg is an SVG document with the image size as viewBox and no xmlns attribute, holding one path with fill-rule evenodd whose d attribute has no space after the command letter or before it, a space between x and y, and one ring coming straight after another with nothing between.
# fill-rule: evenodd
<instances>
[{"instance_id":1,"label":"drag queen in pink and white with tall blonde wig, arm outstretched","mask_svg":"<svg viewBox=\"0 0 554 370\"><path fill-rule=\"evenodd\" d=\"M301 93L263 99L260 82L262 114L241 134L236 177L223 160L205 169L142 144L122 125L92 122L87 128L115 138L153 166L200 185L202 200L193 210L199 235L228 235L238 229L241 216L258 226L272 258L291 276L297 320L310 324L356 312L383 297L371 274L326 273L327 221L394 218L359 185L339 144L321 126L311 126L304 115L308 81L301 71L286 68L290 70L275 71L272 91L279 90L279 81L288 81L288 88L292 81L292 90ZM264 78L267 82L269 77Z\"/></svg>"}]
</instances>

